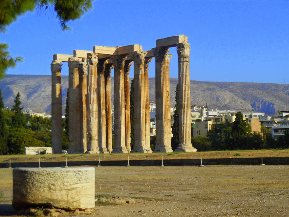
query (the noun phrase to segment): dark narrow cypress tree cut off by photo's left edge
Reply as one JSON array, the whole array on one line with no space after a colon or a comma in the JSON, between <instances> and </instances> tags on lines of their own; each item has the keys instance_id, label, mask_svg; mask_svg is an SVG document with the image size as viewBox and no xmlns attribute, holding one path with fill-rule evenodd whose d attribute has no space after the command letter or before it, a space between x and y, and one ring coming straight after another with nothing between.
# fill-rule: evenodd
<instances>
[{"instance_id":1,"label":"dark narrow cypress tree cut off by photo's left edge","mask_svg":"<svg viewBox=\"0 0 289 217\"><path fill-rule=\"evenodd\" d=\"M0 89L0 155L5 155L8 152L7 146L8 130L5 119L3 117L2 108L4 108L4 103L2 100L2 93Z\"/></svg>"}]
</instances>

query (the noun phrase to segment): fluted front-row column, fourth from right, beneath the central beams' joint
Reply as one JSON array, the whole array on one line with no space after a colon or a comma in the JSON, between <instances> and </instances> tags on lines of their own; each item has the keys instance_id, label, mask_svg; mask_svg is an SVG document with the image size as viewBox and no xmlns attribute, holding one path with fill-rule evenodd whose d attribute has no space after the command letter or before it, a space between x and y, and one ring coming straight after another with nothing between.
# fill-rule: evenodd
<instances>
[{"instance_id":1,"label":"fluted front-row column, fourth from right, beneath the central beams' joint","mask_svg":"<svg viewBox=\"0 0 289 217\"><path fill-rule=\"evenodd\" d=\"M125 55L111 58L114 67L114 149L112 153L128 153L125 147Z\"/></svg>"}]
</instances>

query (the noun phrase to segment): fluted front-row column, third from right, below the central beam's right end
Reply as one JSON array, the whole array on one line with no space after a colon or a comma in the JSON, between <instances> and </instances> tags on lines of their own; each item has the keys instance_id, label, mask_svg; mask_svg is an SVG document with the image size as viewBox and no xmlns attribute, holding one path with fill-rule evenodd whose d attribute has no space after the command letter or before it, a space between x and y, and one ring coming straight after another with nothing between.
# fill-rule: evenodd
<instances>
[{"instance_id":1,"label":"fluted front-row column, third from right, below the central beam's right end","mask_svg":"<svg viewBox=\"0 0 289 217\"><path fill-rule=\"evenodd\" d=\"M132 152L144 152L147 148L145 115L144 58L147 52L130 54L134 60L134 148Z\"/></svg>"}]
</instances>

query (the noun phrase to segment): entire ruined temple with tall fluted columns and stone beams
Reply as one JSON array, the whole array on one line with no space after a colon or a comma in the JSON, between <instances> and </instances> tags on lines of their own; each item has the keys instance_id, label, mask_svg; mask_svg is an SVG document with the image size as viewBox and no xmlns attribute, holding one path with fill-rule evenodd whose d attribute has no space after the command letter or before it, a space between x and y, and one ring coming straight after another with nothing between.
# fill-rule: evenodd
<instances>
[{"instance_id":1,"label":"entire ruined temple with tall fluted columns and stone beams","mask_svg":"<svg viewBox=\"0 0 289 217\"><path fill-rule=\"evenodd\" d=\"M156 40L156 47L140 45L94 46L93 51L74 50L73 55L54 54L52 73L52 148L62 151L61 66L68 62L68 153L127 153L150 150L148 67L155 58L156 146L154 152L171 149L169 64L170 47L179 60L179 146L175 151L195 152L191 144L190 44L185 35ZM129 69L134 63L134 148L130 146ZM110 74L114 69L114 149ZM87 144L87 136L89 142Z\"/></svg>"}]
</instances>

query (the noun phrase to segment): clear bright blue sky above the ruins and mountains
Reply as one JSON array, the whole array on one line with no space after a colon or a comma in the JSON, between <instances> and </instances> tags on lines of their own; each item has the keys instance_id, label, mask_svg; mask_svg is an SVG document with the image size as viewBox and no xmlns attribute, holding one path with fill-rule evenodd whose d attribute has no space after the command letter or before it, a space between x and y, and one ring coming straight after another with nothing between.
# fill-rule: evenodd
<instances>
[{"instance_id":1,"label":"clear bright blue sky above the ruins and mountains","mask_svg":"<svg viewBox=\"0 0 289 217\"><path fill-rule=\"evenodd\" d=\"M289 1L287 0L119 0L94 1L93 9L62 32L56 13L34 11L0 34L12 56L24 62L8 74L50 75L53 54L92 50L94 45L142 45L179 34L190 43L190 79L289 83ZM176 48L170 77L178 77ZM67 64L62 75L68 75ZM133 77L131 70L130 77ZM154 60L149 77L155 77Z\"/></svg>"}]
</instances>

